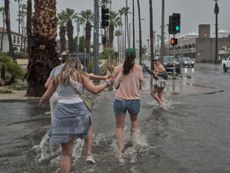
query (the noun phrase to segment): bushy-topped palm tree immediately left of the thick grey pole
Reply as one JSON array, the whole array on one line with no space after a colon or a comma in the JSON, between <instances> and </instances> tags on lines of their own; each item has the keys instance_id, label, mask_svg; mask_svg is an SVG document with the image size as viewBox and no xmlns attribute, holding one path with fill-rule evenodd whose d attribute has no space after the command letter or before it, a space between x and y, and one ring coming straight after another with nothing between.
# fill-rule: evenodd
<instances>
[{"instance_id":1,"label":"bushy-topped palm tree immediately left of the thick grey pole","mask_svg":"<svg viewBox=\"0 0 230 173\"><path fill-rule=\"evenodd\" d=\"M86 52L90 53L91 40L91 22L93 21L93 13L91 10L85 10L80 13L81 18L85 23L85 48Z\"/></svg>"}]
</instances>

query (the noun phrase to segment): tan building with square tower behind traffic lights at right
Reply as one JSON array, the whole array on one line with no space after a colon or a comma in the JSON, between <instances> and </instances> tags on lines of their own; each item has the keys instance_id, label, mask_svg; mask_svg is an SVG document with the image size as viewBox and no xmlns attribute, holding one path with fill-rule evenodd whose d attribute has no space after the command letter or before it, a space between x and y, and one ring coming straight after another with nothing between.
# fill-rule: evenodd
<instances>
[{"instance_id":1,"label":"tan building with square tower behind traffic lights at right","mask_svg":"<svg viewBox=\"0 0 230 173\"><path fill-rule=\"evenodd\" d=\"M165 42L166 54L176 57L188 56L196 62L215 61L215 34L211 37L210 25L199 25L199 33L188 33L178 37L178 44L171 46ZM159 50L157 50L159 52ZM230 55L230 32L223 29L218 31L218 61Z\"/></svg>"}]
</instances>

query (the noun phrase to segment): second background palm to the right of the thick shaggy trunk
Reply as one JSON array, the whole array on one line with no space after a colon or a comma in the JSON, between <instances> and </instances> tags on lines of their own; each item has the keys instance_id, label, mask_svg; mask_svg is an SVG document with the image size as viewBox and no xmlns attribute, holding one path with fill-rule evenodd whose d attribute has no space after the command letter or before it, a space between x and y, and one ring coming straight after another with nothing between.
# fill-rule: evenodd
<instances>
[{"instance_id":1,"label":"second background palm to the right of the thick shaggy trunk","mask_svg":"<svg viewBox=\"0 0 230 173\"><path fill-rule=\"evenodd\" d=\"M65 10L66 13L66 31L67 31L67 37L68 37L68 47L69 52L74 51L74 44L73 44L73 24L72 21L76 19L77 14L74 12L73 9L67 8Z\"/></svg>"}]
</instances>

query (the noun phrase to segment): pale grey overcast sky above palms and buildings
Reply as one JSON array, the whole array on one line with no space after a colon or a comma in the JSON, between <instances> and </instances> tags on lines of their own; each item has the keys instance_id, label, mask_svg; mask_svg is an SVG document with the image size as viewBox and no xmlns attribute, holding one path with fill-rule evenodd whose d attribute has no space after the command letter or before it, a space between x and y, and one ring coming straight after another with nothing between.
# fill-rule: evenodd
<instances>
[{"instance_id":1,"label":"pale grey overcast sky above palms and buildings","mask_svg":"<svg viewBox=\"0 0 230 173\"><path fill-rule=\"evenodd\" d=\"M23 0L26 2L26 0ZM136 2L136 0L135 0ZM154 30L156 34L160 34L161 25L161 0L153 0L153 16L154 16ZM141 18L143 42L149 37L149 0L140 0L141 5ZM128 0L131 7L132 0ZM165 24L168 23L168 16L172 13L181 13L181 33L186 34L189 32L198 33L199 24L210 24L211 33L215 31L215 14L214 14L214 0L165 0ZM0 6L4 5L4 1L0 0ZM135 4L136 5L136 4ZM230 0L219 0L219 29L230 31ZM112 10L118 11L121 7L125 6L125 0L112 0ZM93 11L94 0L57 0L57 12L66 8L72 8L76 12L91 9ZM17 31L16 11L17 3L11 0L11 26L13 31ZM131 8L132 9L132 8ZM137 20L136 9L136 20ZM131 16L129 17L131 21ZM2 21L0 21L2 26ZM165 34L167 37L167 28ZM138 23L136 22L136 34L138 34ZM136 37L138 38L138 37Z\"/></svg>"}]
</instances>

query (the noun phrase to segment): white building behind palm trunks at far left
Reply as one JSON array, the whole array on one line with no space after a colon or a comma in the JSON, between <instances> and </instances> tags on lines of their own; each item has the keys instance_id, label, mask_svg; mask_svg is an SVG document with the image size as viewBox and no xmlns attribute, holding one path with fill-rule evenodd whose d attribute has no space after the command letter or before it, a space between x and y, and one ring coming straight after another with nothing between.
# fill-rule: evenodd
<instances>
[{"instance_id":1,"label":"white building behind palm trunks at far left","mask_svg":"<svg viewBox=\"0 0 230 173\"><path fill-rule=\"evenodd\" d=\"M21 51L24 52L23 50L26 50L24 37L22 37L21 34L13 31L11 32L11 37L12 37L12 44L15 53L20 53ZM9 41L8 41L7 31L6 29L1 27L0 27L0 52L9 52Z\"/></svg>"}]
</instances>

